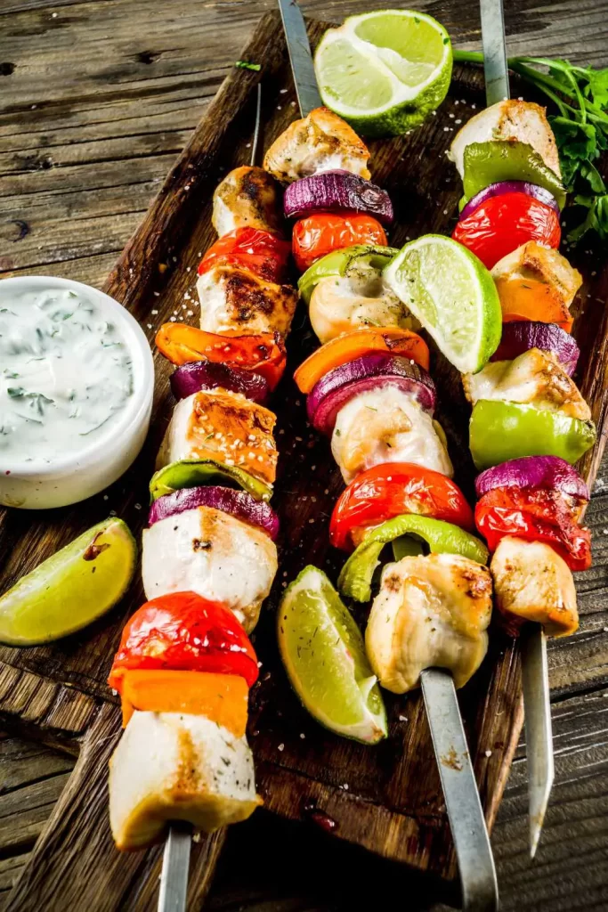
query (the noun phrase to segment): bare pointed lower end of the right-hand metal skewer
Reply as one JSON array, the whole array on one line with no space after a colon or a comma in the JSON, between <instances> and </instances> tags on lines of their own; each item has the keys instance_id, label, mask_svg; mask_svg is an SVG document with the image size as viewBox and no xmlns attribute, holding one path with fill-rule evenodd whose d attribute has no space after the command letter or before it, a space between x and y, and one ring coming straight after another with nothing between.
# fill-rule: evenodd
<instances>
[{"instance_id":1,"label":"bare pointed lower end of the right-hand metal skewer","mask_svg":"<svg viewBox=\"0 0 608 912\"><path fill-rule=\"evenodd\" d=\"M536 855L553 784L553 738L547 637L540 624L521 631L521 680L526 718L530 855Z\"/></svg>"}]
</instances>

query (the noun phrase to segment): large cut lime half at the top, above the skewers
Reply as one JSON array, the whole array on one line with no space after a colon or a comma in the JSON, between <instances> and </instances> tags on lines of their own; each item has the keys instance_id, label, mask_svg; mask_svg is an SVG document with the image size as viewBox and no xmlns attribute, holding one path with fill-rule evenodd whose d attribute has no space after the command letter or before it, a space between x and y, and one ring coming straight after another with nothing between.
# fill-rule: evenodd
<instances>
[{"instance_id":1,"label":"large cut lime half at the top, above the skewers","mask_svg":"<svg viewBox=\"0 0 608 912\"><path fill-rule=\"evenodd\" d=\"M397 135L421 124L446 97L452 46L432 16L377 10L328 29L314 70L324 104L357 132Z\"/></svg>"}]
</instances>

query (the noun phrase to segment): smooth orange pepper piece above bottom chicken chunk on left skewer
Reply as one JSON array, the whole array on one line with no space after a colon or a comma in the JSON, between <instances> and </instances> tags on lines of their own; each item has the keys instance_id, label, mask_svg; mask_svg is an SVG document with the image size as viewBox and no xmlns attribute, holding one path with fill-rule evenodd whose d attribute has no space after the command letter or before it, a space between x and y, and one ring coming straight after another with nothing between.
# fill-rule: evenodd
<instances>
[{"instance_id":1,"label":"smooth orange pepper piece above bottom chicken chunk on left skewer","mask_svg":"<svg viewBox=\"0 0 608 912\"><path fill-rule=\"evenodd\" d=\"M242 738L247 726L247 681L239 675L163 668L129 668L122 683L122 727L135 710L206 716Z\"/></svg>"}]
</instances>

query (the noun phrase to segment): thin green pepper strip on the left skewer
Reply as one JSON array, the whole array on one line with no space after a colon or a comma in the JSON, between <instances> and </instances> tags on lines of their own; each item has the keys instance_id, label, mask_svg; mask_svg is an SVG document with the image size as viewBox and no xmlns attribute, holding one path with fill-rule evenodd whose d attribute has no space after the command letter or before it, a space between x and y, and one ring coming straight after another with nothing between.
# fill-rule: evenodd
<instances>
[{"instance_id":1,"label":"thin green pepper strip on the left skewer","mask_svg":"<svg viewBox=\"0 0 608 912\"><path fill-rule=\"evenodd\" d=\"M273 494L273 489L267 484L235 465L225 465L212 459L182 459L170 462L152 475L149 482L150 497L156 501L163 494L179 491L180 488L197 488L201 484L242 488L256 501L269 501Z\"/></svg>"}]
</instances>

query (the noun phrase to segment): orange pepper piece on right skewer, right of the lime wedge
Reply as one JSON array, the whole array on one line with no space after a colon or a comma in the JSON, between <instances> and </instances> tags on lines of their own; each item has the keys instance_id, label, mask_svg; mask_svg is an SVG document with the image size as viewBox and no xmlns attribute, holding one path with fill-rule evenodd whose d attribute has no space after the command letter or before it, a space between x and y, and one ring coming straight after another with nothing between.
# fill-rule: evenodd
<instances>
[{"instance_id":1,"label":"orange pepper piece on right skewer, right of the lime wedge","mask_svg":"<svg viewBox=\"0 0 608 912\"><path fill-rule=\"evenodd\" d=\"M567 333L572 329L574 320L568 307L559 292L548 283L520 276L499 277L495 282L503 323L537 320L539 323L557 323Z\"/></svg>"}]
</instances>

